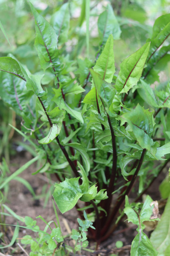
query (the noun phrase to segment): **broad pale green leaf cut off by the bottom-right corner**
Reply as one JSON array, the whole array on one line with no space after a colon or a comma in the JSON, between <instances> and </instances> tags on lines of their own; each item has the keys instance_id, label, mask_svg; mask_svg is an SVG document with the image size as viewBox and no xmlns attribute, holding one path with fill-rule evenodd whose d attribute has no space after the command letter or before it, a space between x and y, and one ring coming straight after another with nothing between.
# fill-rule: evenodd
<instances>
[{"instance_id":1,"label":"broad pale green leaf cut off by the bottom-right corner","mask_svg":"<svg viewBox=\"0 0 170 256\"><path fill-rule=\"evenodd\" d=\"M165 210L162 214L161 221L158 222L157 227L151 233L150 241L158 255L164 255L166 248L170 244L170 196L167 200Z\"/></svg>"}]
</instances>

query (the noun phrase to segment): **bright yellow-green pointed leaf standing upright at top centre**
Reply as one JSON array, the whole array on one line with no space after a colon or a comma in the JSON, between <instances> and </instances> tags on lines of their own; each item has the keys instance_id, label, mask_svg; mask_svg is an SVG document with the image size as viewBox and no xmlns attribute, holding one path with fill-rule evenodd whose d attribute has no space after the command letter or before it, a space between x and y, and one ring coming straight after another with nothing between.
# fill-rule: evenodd
<instances>
[{"instance_id":1,"label":"bright yellow-green pointed leaf standing upright at top centre","mask_svg":"<svg viewBox=\"0 0 170 256\"><path fill-rule=\"evenodd\" d=\"M106 45L104 46L104 49L100 54L99 59L96 61L96 64L93 69L107 83L112 82L112 78L115 73L112 35L108 37Z\"/></svg>"}]
</instances>

